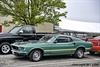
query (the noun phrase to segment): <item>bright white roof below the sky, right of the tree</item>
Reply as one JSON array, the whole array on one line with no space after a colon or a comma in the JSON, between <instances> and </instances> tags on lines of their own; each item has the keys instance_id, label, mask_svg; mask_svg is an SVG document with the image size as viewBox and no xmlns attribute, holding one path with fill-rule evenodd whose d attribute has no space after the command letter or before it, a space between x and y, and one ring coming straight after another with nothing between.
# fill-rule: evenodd
<instances>
[{"instance_id":1,"label":"bright white roof below the sky, right of the tree","mask_svg":"<svg viewBox=\"0 0 100 67\"><path fill-rule=\"evenodd\" d=\"M65 19L59 23L59 27L62 31L100 33L100 23L95 22L81 22Z\"/></svg>"}]
</instances>

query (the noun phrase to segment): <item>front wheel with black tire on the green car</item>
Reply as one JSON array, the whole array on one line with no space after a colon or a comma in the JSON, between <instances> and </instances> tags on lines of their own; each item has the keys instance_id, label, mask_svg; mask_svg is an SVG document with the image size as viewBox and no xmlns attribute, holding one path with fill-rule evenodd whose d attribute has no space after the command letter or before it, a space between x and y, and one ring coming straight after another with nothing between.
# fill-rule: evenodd
<instances>
[{"instance_id":1,"label":"front wheel with black tire on the green car","mask_svg":"<svg viewBox=\"0 0 100 67\"><path fill-rule=\"evenodd\" d=\"M43 53L41 50L33 50L30 55L29 59L33 62L38 62L42 59Z\"/></svg>"}]
</instances>

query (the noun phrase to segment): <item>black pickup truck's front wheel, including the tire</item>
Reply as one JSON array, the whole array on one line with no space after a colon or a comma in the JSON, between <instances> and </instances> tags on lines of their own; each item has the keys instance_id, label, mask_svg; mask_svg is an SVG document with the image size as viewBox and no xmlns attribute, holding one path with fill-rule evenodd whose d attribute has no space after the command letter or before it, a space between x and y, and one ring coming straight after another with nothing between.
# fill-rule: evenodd
<instances>
[{"instance_id":1,"label":"black pickup truck's front wheel, including the tire","mask_svg":"<svg viewBox=\"0 0 100 67\"><path fill-rule=\"evenodd\" d=\"M8 42L1 43L0 52L2 54L9 54L11 53L11 46Z\"/></svg>"}]
</instances>

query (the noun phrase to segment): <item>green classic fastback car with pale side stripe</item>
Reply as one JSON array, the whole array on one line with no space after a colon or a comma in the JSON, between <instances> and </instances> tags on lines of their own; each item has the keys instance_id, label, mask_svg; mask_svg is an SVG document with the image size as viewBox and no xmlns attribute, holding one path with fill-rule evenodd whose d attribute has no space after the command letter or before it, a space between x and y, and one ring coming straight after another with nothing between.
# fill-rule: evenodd
<instances>
[{"instance_id":1,"label":"green classic fastback car with pale side stripe","mask_svg":"<svg viewBox=\"0 0 100 67\"><path fill-rule=\"evenodd\" d=\"M90 42L81 39L61 35L46 35L37 43L17 42L12 44L12 53L18 57L29 57L32 61L39 61L43 56L71 54L77 58L83 58L84 52L92 47Z\"/></svg>"}]
</instances>

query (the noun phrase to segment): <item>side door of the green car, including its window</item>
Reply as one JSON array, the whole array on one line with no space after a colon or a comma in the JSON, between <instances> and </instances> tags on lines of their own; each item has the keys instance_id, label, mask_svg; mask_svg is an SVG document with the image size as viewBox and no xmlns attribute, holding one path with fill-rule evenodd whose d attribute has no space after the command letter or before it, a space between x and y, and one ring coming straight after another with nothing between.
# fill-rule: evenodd
<instances>
[{"instance_id":1,"label":"side door of the green car, including its window","mask_svg":"<svg viewBox=\"0 0 100 67\"><path fill-rule=\"evenodd\" d=\"M73 54L75 51L75 44L71 37L59 36L57 39L54 40L50 48L52 54Z\"/></svg>"}]
</instances>

